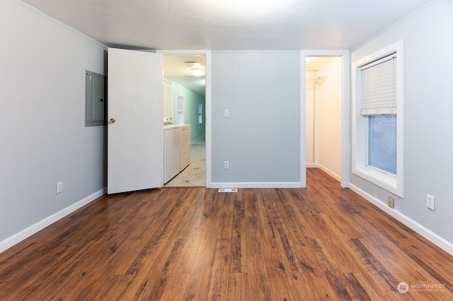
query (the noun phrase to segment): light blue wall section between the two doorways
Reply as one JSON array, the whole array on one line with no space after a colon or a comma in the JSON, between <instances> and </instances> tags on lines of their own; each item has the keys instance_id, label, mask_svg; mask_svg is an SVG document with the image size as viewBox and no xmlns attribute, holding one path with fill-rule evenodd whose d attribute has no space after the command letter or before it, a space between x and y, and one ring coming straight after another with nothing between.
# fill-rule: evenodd
<instances>
[{"instance_id":1,"label":"light blue wall section between the two doorways","mask_svg":"<svg viewBox=\"0 0 453 301\"><path fill-rule=\"evenodd\" d=\"M212 52L211 118L212 182L299 182L299 52Z\"/></svg>"}]
</instances>

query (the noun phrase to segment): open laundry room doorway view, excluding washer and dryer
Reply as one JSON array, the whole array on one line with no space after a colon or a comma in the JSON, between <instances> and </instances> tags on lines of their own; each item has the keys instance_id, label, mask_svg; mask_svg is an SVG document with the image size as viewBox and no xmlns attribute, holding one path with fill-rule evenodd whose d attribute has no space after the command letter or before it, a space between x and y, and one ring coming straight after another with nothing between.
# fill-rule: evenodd
<instances>
[{"instance_id":1,"label":"open laundry room doorway view, excluding washer and dryer","mask_svg":"<svg viewBox=\"0 0 453 301\"><path fill-rule=\"evenodd\" d=\"M164 53L164 124L190 124L190 165L164 187L207 186L205 68L205 54Z\"/></svg>"}]
</instances>

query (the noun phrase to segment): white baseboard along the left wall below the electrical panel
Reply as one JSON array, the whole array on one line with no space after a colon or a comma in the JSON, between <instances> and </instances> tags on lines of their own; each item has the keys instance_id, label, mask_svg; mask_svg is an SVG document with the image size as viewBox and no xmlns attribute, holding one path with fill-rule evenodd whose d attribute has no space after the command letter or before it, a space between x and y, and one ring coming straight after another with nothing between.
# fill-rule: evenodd
<instances>
[{"instance_id":1,"label":"white baseboard along the left wall below the electrical panel","mask_svg":"<svg viewBox=\"0 0 453 301\"><path fill-rule=\"evenodd\" d=\"M6 249L9 249L10 247L13 247L13 245L18 244L19 242L25 240L25 238L30 237L31 235L46 228L47 226L52 225L52 223L55 223L57 220L64 218L70 213L73 213L77 209L85 206L87 203L90 203L91 201L98 199L98 197L103 196L103 194L106 193L107 188L101 189L95 192L94 194L87 196L85 199L82 199L81 201L73 203L71 206L64 208L62 211L54 213L51 216L47 216L47 218L40 220L38 223L30 225L30 227L25 228L20 232L17 232L15 235L6 238L6 240L0 242L0 253L4 252Z\"/></svg>"}]
</instances>

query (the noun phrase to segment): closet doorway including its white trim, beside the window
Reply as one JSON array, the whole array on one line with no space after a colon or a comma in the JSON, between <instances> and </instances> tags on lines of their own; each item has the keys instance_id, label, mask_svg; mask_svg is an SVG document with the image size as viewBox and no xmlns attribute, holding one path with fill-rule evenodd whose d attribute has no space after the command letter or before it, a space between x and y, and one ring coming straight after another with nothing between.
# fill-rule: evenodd
<instances>
[{"instance_id":1,"label":"closet doorway including its white trim, beside the window","mask_svg":"<svg viewBox=\"0 0 453 301\"><path fill-rule=\"evenodd\" d=\"M317 167L350 184L350 58L348 50L301 52L303 95L301 184L306 168Z\"/></svg>"}]
</instances>

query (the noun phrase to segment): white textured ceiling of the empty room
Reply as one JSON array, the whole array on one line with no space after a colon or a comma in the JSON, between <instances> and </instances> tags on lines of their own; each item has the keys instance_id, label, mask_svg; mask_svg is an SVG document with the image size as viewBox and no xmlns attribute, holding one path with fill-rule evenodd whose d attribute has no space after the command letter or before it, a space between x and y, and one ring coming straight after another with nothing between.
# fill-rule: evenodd
<instances>
[{"instance_id":1,"label":"white textured ceiling of the empty room","mask_svg":"<svg viewBox=\"0 0 453 301\"><path fill-rule=\"evenodd\" d=\"M350 49L430 2L251 1L25 0L105 45L141 49Z\"/></svg>"}]
</instances>

